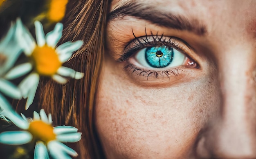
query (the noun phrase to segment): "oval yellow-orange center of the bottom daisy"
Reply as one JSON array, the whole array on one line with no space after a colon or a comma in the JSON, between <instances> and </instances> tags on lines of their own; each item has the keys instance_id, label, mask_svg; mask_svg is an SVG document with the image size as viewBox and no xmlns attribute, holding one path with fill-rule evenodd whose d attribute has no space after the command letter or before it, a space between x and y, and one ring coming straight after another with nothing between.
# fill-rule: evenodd
<instances>
[{"instance_id":1,"label":"oval yellow-orange center of the bottom daisy","mask_svg":"<svg viewBox=\"0 0 256 159\"><path fill-rule=\"evenodd\" d=\"M53 127L41 120L31 122L27 131L29 131L33 137L40 139L45 143L56 139L56 135L53 132Z\"/></svg>"}]
</instances>

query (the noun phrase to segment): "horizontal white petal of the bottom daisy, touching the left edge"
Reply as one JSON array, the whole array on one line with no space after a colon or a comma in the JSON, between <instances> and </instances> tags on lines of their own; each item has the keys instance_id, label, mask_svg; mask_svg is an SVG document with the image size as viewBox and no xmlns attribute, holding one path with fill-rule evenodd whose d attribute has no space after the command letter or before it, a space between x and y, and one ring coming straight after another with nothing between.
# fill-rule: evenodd
<instances>
[{"instance_id":1,"label":"horizontal white petal of the bottom daisy, touching the left edge","mask_svg":"<svg viewBox=\"0 0 256 159\"><path fill-rule=\"evenodd\" d=\"M21 145L30 142L32 135L27 131L5 131L0 134L0 143Z\"/></svg>"}]
</instances>

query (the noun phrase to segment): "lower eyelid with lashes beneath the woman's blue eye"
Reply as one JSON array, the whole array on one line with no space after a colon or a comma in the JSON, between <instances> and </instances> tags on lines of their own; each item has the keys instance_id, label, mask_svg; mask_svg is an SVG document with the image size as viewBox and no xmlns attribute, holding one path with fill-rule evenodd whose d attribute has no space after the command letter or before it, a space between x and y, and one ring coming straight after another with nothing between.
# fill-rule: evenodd
<instances>
[{"instance_id":1,"label":"lower eyelid with lashes beneath the woman's blue eye","mask_svg":"<svg viewBox=\"0 0 256 159\"><path fill-rule=\"evenodd\" d=\"M128 78L143 87L170 87L177 83L187 82L198 78L196 75L201 71L196 68L196 65L189 65L191 60L186 57L184 64L175 68L157 68L149 70L148 68L139 68L134 59L127 59L123 61L124 72Z\"/></svg>"}]
</instances>

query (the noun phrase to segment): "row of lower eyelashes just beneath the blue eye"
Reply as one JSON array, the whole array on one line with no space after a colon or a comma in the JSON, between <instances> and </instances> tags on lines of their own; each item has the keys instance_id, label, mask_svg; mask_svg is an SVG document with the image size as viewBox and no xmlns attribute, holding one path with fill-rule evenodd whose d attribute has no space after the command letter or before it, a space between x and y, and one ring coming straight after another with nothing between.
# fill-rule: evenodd
<instances>
[{"instance_id":1,"label":"row of lower eyelashes just beneath the blue eye","mask_svg":"<svg viewBox=\"0 0 256 159\"><path fill-rule=\"evenodd\" d=\"M180 75L180 71L183 71L180 68L172 68L170 70L160 70L160 71L151 71L151 70L145 70L141 68L137 68L136 65L133 65L132 63L129 63L124 67L124 69L128 70L128 72L131 72L131 74L135 74L136 76L153 76L154 78L159 78L159 76L165 77L167 76L170 79L170 76L178 76Z\"/></svg>"}]
</instances>

